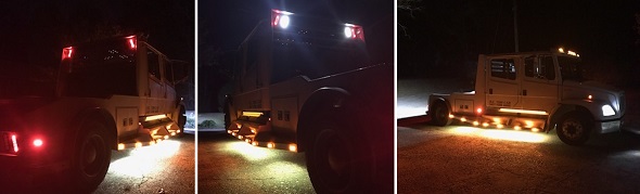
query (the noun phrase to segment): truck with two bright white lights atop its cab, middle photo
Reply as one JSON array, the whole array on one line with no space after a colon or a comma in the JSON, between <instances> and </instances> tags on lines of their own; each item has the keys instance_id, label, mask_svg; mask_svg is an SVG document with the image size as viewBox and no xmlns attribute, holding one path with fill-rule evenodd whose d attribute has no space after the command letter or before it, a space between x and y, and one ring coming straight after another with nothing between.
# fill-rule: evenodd
<instances>
[{"instance_id":1,"label":"truck with two bright white lights atop its cab, middle photo","mask_svg":"<svg viewBox=\"0 0 640 194\"><path fill-rule=\"evenodd\" d=\"M393 65L371 63L362 26L327 18L271 10L255 26L238 50L227 132L305 153L318 193L393 193Z\"/></svg>"}]
</instances>

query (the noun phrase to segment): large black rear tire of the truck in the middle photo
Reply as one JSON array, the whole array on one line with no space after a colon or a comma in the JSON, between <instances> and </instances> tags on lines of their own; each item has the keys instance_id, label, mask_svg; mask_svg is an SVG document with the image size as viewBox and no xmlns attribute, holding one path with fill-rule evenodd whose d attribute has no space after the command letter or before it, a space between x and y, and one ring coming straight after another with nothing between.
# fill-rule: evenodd
<instances>
[{"instance_id":1,"label":"large black rear tire of the truck in the middle photo","mask_svg":"<svg viewBox=\"0 0 640 194\"><path fill-rule=\"evenodd\" d=\"M315 119L305 151L307 171L317 193L369 193L375 159L357 125L334 114Z\"/></svg>"}]
</instances>

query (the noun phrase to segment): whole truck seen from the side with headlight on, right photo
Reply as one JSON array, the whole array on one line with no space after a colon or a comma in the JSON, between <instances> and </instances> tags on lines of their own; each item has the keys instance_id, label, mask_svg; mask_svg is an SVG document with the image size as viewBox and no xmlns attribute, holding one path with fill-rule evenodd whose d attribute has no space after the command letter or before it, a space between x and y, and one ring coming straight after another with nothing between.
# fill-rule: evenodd
<instances>
[{"instance_id":1,"label":"whole truck seen from the side with headlight on, right photo","mask_svg":"<svg viewBox=\"0 0 640 194\"><path fill-rule=\"evenodd\" d=\"M478 56L475 90L431 94L427 115L436 126L473 126L549 132L581 145L589 137L619 131L625 92L583 76L580 55L550 51Z\"/></svg>"}]
</instances>

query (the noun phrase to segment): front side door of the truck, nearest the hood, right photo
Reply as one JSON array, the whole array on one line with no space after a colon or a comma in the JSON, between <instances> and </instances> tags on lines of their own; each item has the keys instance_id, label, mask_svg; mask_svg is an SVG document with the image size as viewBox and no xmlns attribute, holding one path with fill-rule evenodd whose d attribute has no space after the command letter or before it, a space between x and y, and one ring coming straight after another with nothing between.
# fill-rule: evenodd
<instances>
[{"instance_id":1,"label":"front side door of the truck, nearest the hood, right photo","mask_svg":"<svg viewBox=\"0 0 640 194\"><path fill-rule=\"evenodd\" d=\"M559 80L553 56L533 55L524 59L521 99L524 109L549 114L558 104Z\"/></svg>"}]
</instances>

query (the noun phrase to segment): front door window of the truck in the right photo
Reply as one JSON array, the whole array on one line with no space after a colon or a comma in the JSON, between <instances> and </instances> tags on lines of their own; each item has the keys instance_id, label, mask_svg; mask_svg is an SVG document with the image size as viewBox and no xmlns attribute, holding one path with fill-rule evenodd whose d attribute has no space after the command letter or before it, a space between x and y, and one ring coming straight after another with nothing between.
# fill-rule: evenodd
<instances>
[{"instance_id":1,"label":"front door window of the truck in the right photo","mask_svg":"<svg viewBox=\"0 0 640 194\"><path fill-rule=\"evenodd\" d=\"M536 61L538 60L538 61ZM554 80L555 70L553 68L552 56L530 56L524 60L525 76L542 80Z\"/></svg>"}]
</instances>

